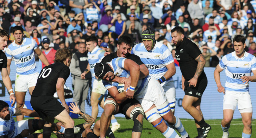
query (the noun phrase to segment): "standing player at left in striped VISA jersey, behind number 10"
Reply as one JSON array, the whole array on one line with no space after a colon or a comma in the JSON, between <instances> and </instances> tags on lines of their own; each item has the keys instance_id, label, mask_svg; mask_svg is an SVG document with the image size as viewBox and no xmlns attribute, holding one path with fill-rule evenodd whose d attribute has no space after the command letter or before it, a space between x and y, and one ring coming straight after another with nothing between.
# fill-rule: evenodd
<instances>
[{"instance_id":1,"label":"standing player at left in striped VISA jersey, behind number 10","mask_svg":"<svg viewBox=\"0 0 256 138\"><path fill-rule=\"evenodd\" d=\"M36 68L34 51L46 66L49 65L49 62L42 51L39 49L37 42L34 39L23 39L24 33L21 26L13 27L12 33L15 40L8 46L5 52L7 57L7 70L10 75L10 65L12 58L14 58L15 64L17 65L14 87L17 103L16 106L17 108L23 108L25 104L26 92L29 89L30 95L32 94L39 76ZM17 121L23 120L23 118L23 115L17 116Z\"/></svg>"}]
</instances>

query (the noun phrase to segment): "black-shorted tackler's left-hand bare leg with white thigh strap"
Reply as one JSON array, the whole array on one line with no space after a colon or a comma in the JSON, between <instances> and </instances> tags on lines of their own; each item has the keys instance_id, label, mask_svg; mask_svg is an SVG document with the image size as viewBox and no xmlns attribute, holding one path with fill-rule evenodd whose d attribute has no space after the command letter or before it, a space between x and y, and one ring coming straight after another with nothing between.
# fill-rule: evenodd
<instances>
[{"instance_id":1,"label":"black-shorted tackler's left-hand bare leg with white thigh strap","mask_svg":"<svg viewBox=\"0 0 256 138\"><path fill-rule=\"evenodd\" d=\"M108 100L105 101L105 103L107 101L111 101L113 104L105 104L104 106L104 111L103 113L101 114L101 117L100 117L100 137L101 138L104 138L106 136L106 132L107 132L107 129L110 125L110 119L111 119L111 115L114 113L114 112L118 112L118 104L116 104L115 100L112 99L112 98L108 98ZM115 105L114 105L115 104ZM117 106L117 107L116 107Z\"/></svg>"}]
</instances>

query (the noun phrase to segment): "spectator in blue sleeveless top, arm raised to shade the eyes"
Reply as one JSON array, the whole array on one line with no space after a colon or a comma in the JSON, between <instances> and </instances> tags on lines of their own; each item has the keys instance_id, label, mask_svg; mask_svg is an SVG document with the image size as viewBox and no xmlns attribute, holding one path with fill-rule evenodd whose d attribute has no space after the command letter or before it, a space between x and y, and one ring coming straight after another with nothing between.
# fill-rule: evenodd
<instances>
[{"instance_id":1,"label":"spectator in blue sleeveless top, arm raised to shade the eyes","mask_svg":"<svg viewBox=\"0 0 256 138\"><path fill-rule=\"evenodd\" d=\"M124 34L126 28L125 21L121 19L121 14L117 14L117 16L111 20L111 24L113 23L115 23L115 33L118 35L117 38L119 38Z\"/></svg>"}]
</instances>

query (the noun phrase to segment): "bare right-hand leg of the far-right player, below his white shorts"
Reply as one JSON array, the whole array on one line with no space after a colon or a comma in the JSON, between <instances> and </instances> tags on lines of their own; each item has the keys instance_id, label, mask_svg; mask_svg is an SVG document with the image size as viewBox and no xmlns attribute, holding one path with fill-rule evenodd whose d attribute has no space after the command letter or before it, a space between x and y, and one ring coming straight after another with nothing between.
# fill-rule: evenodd
<instances>
[{"instance_id":1,"label":"bare right-hand leg of the far-right player, below his white shorts","mask_svg":"<svg viewBox=\"0 0 256 138\"><path fill-rule=\"evenodd\" d=\"M243 133L251 134L252 133L252 112L241 113L244 129Z\"/></svg>"}]
</instances>

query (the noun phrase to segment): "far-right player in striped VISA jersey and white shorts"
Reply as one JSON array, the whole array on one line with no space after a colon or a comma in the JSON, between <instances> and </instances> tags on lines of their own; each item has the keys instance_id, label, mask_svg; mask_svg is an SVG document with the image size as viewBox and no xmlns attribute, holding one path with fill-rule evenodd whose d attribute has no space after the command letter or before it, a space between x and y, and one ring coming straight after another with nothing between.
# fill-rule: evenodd
<instances>
[{"instance_id":1,"label":"far-right player in striped VISA jersey and white shorts","mask_svg":"<svg viewBox=\"0 0 256 138\"><path fill-rule=\"evenodd\" d=\"M256 82L256 58L244 51L245 37L236 35L233 39L235 51L222 57L214 71L218 92L224 94L222 138L228 138L234 110L238 105L244 124L242 138L250 138L252 133L252 103L249 93L249 81ZM226 69L226 85L222 87L219 73ZM251 76L251 72L253 76Z\"/></svg>"}]
</instances>

